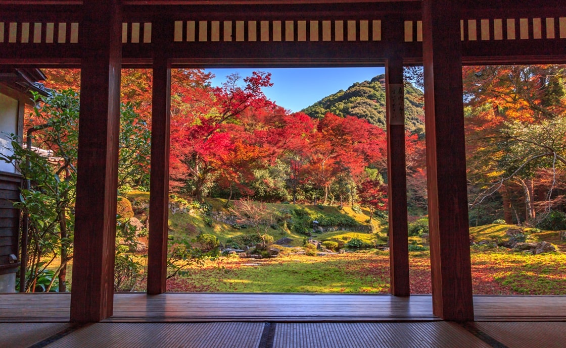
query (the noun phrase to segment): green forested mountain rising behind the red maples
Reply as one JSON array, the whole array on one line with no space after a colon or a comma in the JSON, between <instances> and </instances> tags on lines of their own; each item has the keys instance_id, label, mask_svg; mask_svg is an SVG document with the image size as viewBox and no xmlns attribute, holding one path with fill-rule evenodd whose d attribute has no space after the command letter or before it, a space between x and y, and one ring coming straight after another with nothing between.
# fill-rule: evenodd
<instances>
[{"instance_id":1,"label":"green forested mountain rising behind the red maples","mask_svg":"<svg viewBox=\"0 0 566 348\"><path fill-rule=\"evenodd\" d=\"M422 132L423 93L413 85L405 85L405 125L411 132ZM321 119L327 112L345 117L355 116L385 128L385 75L370 81L355 82L348 89L329 95L302 110L312 118Z\"/></svg>"}]
</instances>

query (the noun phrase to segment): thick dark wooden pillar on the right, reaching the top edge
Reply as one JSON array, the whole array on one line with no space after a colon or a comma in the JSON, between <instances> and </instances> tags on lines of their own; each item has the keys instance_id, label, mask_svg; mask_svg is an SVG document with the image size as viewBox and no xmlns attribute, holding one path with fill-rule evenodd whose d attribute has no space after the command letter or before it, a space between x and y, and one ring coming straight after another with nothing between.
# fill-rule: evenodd
<instances>
[{"instance_id":1,"label":"thick dark wooden pillar on the right, reaching the top edge","mask_svg":"<svg viewBox=\"0 0 566 348\"><path fill-rule=\"evenodd\" d=\"M428 219L434 314L474 320L466 190L460 3L423 0Z\"/></svg>"}]
</instances>

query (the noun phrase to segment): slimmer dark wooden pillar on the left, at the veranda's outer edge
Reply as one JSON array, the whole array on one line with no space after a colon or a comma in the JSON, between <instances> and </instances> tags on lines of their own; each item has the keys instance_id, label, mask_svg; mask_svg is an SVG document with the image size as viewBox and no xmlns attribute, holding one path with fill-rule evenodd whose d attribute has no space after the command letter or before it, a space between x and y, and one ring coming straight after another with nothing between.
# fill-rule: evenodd
<instances>
[{"instance_id":1,"label":"slimmer dark wooden pillar on the left, at the veranda's outer edge","mask_svg":"<svg viewBox=\"0 0 566 348\"><path fill-rule=\"evenodd\" d=\"M156 28L154 45L173 40L166 23ZM172 29L172 28L169 28ZM166 42L164 42L166 45ZM164 49L164 46L162 46ZM153 58L151 116L151 186L149 190L149 252L147 293L166 292L169 220L169 129L171 68L165 54Z\"/></svg>"}]
</instances>

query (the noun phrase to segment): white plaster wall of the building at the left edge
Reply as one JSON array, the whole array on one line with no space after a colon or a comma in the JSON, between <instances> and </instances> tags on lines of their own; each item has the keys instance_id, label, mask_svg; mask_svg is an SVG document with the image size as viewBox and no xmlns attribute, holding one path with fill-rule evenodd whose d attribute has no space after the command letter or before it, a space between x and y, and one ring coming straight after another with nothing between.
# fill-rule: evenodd
<instances>
[{"instance_id":1,"label":"white plaster wall of the building at the left edge","mask_svg":"<svg viewBox=\"0 0 566 348\"><path fill-rule=\"evenodd\" d=\"M11 154L9 134L18 134L18 101L0 94L0 153ZM15 173L12 164L0 160L0 171Z\"/></svg>"}]
</instances>

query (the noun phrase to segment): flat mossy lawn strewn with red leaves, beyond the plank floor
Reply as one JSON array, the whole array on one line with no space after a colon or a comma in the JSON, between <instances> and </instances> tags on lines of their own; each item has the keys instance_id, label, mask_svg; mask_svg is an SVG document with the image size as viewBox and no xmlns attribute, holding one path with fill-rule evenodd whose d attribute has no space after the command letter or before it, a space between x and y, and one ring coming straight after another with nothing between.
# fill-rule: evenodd
<instances>
[{"instance_id":1,"label":"flat mossy lawn strewn with red leaves, beyond the plank floor","mask_svg":"<svg viewBox=\"0 0 566 348\"><path fill-rule=\"evenodd\" d=\"M411 293L431 293L430 254L410 253ZM474 294L566 295L566 255L471 253ZM168 281L172 292L388 293L389 254L221 258Z\"/></svg>"}]
</instances>

